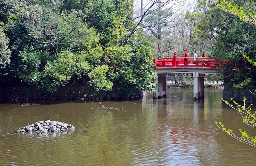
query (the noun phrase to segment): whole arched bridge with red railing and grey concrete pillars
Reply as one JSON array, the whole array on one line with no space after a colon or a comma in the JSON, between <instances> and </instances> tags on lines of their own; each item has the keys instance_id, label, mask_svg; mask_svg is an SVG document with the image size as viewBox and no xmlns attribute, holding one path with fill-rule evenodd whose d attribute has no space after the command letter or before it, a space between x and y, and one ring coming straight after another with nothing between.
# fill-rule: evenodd
<instances>
[{"instance_id":1,"label":"whole arched bridge with red railing and grey concrete pillars","mask_svg":"<svg viewBox=\"0 0 256 166\"><path fill-rule=\"evenodd\" d=\"M194 80L194 99L204 96L204 75L218 74L220 75L221 68L217 64L215 58L155 58L153 62L157 66L157 79L154 80L159 86L155 88L153 93L154 98L166 95L167 91L167 76L175 73L191 73Z\"/></svg>"}]
</instances>

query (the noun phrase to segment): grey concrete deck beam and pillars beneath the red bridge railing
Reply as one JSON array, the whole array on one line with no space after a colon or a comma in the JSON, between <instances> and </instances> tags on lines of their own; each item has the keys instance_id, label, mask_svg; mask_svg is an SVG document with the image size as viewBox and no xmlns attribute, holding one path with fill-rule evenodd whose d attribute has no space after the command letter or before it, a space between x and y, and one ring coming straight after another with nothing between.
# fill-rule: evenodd
<instances>
[{"instance_id":1,"label":"grey concrete deck beam and pillars beneath the red bridge railing","mask_svg":"<svg viewBox=\"0 0 256 166\"><path fill-rule=\"evenodd\" d=\"M210 69L210 68L181 68L181 67L172 67L172 68L158 68L156 74L158 78L154 80L155 83L159 84L157 88L155 88L155 92L153 92L153 98L163 97L166 95L167 91L167 76L168 74L173 73L191 73L193 74L194 80L194 99L199 99L204 96L204 75L205 74L218 74L218 69Z\"/></svg>"}]
</instances>

